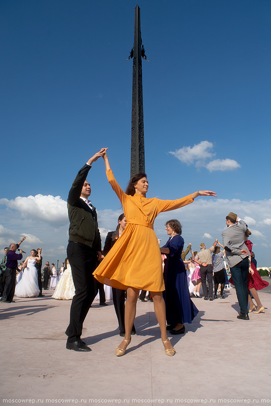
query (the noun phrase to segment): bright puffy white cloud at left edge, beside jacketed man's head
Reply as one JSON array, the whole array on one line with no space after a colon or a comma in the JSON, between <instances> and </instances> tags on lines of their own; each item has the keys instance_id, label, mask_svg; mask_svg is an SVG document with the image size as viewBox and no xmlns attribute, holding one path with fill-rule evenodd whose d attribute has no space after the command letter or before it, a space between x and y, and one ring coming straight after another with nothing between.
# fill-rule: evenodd
<instances>
[{"instance_id":1,"label":"bright puffy white cloud at left edge, beside jacketed man's head","mask_svg":"<svg viewBox=\"0 0 271 406\"><path fill-rule=\"evenodd\" d=\"M35 196L21 197L14 200L0 199L0 204L9 209L17 210L23 218L41 220L50 224L65 224L68 222L67 203L60 196Z\"/></svg>"}]
</instances>

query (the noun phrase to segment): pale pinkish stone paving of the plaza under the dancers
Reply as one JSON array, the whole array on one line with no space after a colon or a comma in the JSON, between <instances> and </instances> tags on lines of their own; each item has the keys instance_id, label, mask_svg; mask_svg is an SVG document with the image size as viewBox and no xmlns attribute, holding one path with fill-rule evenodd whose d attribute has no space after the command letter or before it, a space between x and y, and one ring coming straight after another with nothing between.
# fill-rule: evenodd
<instances>
[{"instance_id":1,"label":"pale pinkish stone paving of the plaza under the dancers","mask_svg":"<svg viewBox=\"0 0 271 406\"><path fill-rule=\"evenodd\" d=\"M65 348L69 300L49 291L0 303L0 404L270 403L271 295L259 294L265 314L250 321L236 318L235 289L224 299L193 299L200 312L184 335L172 337L174 357L165 355L151 302L138 301L137 335L123 357L114 355L121 337L112 301L89 311L88 353Z\"/></svg>"}]
</instances>

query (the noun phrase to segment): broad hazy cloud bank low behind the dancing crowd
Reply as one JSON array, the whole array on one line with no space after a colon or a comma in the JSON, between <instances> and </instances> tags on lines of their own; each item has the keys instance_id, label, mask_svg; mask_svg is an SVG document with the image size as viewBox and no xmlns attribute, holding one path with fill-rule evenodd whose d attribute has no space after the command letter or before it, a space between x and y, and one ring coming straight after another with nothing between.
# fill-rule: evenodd
<instances>
[{"instance_id":1,"label":"broad hazy cloud bank low behind the dancing crowd","mask_svg":"<svg viewBox=\"0 0 271 406\"><path fill-rule=\"evenodd\" d=\"M42 247L44 261L57 262L59 259L62 262L65 259L68 221L63 225L59 223L50 224L47 221L47 216L44 216L44 221L29 221L28 217L21 216L21 212L14 210L12 215L7 215L7 210L11 209L0 206L0 223L2 224L0 226L0 248L2 250L10 243L18 242L21 236L27 233L29 236L42 241L42 243L35 244L34 242L29 243L29 239L26 239L22 248L27 252L27 255L30 249ZM257 230L251 230L252 235L250 237L254 243L256 259L259 266L271 266L269 251L262 244L267 244L268 247L271 244L271 227L266 227L265 224L266 219L271 219L271 199L245 201L238 198L211 199L199 197L191 205L174 212L161 213L154 222L154 231L156 231L157 237L162 239L162 247L168 240L164 224L167 220L176 218L182 224L182 236L186 246L188 243L192 243L193 251L199 251L202 242L208 245L209 241L211 245L217 238L222 243L221 231L225 228L225 216L229 212L237 213L243 219L250 218L256 222ZM118 217L121 213L121 209L98 211L102 245L108 230L115 230L117 227ZM251 221L248 221L248 224L251 224ZM207 235L210 235L210 238Z\"/></svg>"}]
</instances>

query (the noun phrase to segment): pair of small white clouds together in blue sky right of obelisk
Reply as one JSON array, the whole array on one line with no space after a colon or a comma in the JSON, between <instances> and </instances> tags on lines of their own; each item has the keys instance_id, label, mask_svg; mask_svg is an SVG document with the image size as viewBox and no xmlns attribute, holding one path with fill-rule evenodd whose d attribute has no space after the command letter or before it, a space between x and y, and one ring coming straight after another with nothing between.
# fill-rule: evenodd
<instances>
[{"instance_id":1,"label":"pair of small white clouds together in blue sky right of obelisk","mask_svg":"<svg viewBox=\"0 0 271 406\"><path fill-rule=\"evenodd\" d=\"M204 166L208 171L234 171L241 167L241 165L234 159L214 159L209 161L215 153L212 152L213 144L209 141L202 141L199 144L195 144L193 147L182 147L176 149L176 151L170 151L169 153L178 158L182 163L187 165L195 164L197 167Z\"/></svg>"}]
</instances>

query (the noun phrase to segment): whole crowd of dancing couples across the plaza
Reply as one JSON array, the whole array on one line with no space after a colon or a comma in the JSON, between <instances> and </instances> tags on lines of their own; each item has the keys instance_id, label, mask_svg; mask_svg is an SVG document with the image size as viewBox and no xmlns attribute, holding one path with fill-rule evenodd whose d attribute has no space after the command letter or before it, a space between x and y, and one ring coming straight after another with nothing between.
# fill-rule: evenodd
<instances>
[{"instance_id":1,"label":"whole crowd of dancing couples across the plaza","mask_svg":"<svg viewBox=\"0 0 271 406\"><path fill-rule=\"evenodd\" d=\"M96 209L88 199L91 187L86 180L93 162L100 157L105 162L108 182L124 210L116 220L117 228L108 232L103 250ZM137 300L146 301L146 292L147 300L153 301L168 356L175 354L168 332L171 335L185 333L185 323L191 323L199 313L196 303L200 298L224 299L226 287L231 289L234 285L240 304L237 318L249 320L248 313L264 313L258 291L268 282L261 279L256 269L253 244L249 240L251 232L245 222L230 212L226 216L222 243L216 239L211 247L206 248L202 243L199 251L193 251L192 244L184 250L182 226L177 219L171 219L165 224L169 239L160 247L160 240L153 231L153 222L159 213L191 204L198 196L215 197L216 193L199 190L176 200L161 200L146 198L147 191L147 177L141 173L130 179L124 192L111 171L107 148L102 148L82 167L69 191L69 243L67 258L59 272L54 263L50 266L46 262L42 268L42 248L31 250L18 266L24 237L18 244L5 248L1 264L1 301L11 303L14 294L40 297L42 288L54 290L54 299L71 299L66 348L90 351L81 340L83 322L98 290L100 304L106 306L103 290L106 285L107 293L112 295L120 335L124 337L115 349L117 356L125 354L131 335L136 334Z\"/></svg>"}]
</instances>

